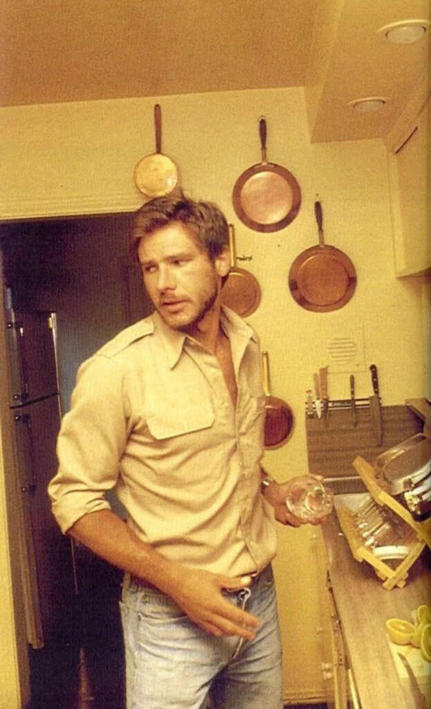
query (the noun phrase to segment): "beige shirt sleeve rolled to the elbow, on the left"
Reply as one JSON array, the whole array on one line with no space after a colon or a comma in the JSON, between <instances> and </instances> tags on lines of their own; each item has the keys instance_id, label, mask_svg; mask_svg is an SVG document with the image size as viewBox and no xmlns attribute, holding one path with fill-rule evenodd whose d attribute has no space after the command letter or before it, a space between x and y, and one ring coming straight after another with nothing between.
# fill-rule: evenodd
<instances>
[{"instance_id":1,"label":"beige shirt sleeve rolled to the elbow, on the left","mask_svg":"<svg viewBox=\"0 0 431 709\"><path fill-rule=\"evenodd\" d=\"M109 509L128 437L124 375L117 362L95 356L79 368L72 408L57 440L59 468L48 493L63 532L79 518Z\"/></svg>"}]
</instances>

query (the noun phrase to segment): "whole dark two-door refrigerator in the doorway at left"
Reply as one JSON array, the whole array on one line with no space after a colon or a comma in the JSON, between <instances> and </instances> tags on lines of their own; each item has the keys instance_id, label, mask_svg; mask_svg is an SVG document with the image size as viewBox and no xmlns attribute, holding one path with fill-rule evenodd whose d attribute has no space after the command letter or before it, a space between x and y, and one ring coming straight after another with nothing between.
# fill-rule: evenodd
<instances>
[{"instance_id":1,"label":"whole dark two-door refrigerator in the doorway at left","mask_svg":"<svg viewBox=\"0 0 431 709\"><path fill-rule=\"evenodd\" d=\"M77 593L72 540L60 532L47 495L61 420L55 313L11 309L6 329L26 627L28 644L41 649L64 635Z\"/></svg>"}]
</instances>

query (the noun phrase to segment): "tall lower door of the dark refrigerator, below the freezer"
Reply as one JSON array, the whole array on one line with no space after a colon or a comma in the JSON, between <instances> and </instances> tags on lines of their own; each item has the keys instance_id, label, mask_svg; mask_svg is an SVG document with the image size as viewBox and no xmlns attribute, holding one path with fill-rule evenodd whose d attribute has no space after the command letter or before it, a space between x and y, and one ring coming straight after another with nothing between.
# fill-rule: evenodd
<instances>
[{"instance_id":1,"label":"tall lower door of the dark refrigerator, below the freezer","mask_svg":"<svg viewBox=\"0 0 431 709\"><path fill-rule=\"evenodd\" d=\"M28 640L42 647L62 632L74 596L71 543L51 512L47 484L57 468L58 397L11 410L15 428L17 494L22 524L21 569Z\"/></svg>"}]
</instances>

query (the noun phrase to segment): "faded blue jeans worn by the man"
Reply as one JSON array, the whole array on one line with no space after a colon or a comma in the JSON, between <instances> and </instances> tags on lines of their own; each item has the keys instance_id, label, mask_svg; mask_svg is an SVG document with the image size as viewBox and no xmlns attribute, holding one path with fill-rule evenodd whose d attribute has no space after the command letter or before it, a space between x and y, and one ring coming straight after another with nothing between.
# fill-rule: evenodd
<instances>
[{"instance_id":1,"label":"faded blue jeans worn by the man","mask_svg":"<svg viewBox=\"0 0 431 709\"><path fill-rule=\"evenodd\" d=\"M282 709L281 640L274 577L267 566L250 588L223 591L257 615L254 640L215 637L169 596L125 575L121 615L127 709Z\"/></svg>"}]
</instances>

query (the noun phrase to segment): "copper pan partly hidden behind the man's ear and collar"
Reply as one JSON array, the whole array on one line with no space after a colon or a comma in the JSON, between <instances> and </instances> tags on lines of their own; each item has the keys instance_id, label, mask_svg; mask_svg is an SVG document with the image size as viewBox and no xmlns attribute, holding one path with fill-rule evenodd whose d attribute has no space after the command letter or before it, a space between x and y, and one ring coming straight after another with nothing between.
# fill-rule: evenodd
<instances>
[{"instance_id":1,"label":"copper pan partly hidden behind the man's ear and collar","mask_svg":"<svg viewBox=\"0 0 431 709\"><path fill-rule=\"evenodd\" d=\"M245 318L254 313L260 303L260 286L253 274L236 267L235 227L229 225L230 271L221 291L221 302Z\"/></svg>"}]
</instances>

